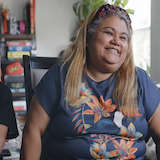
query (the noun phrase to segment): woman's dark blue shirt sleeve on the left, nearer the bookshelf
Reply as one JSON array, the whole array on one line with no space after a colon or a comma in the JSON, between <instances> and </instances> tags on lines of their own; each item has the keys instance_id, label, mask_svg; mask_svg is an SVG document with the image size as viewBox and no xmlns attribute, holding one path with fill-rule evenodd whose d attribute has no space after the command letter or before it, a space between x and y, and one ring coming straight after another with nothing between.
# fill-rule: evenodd
<instances>
[{"instance_id":1,"label":"woman's dark blue shirt sleeve on the left, nearer the bookshelf","mask_svg":"<svg viewBox=\"0 0 160 160\"><path fill-rule=\"evenodd\" d=\"M50 117L53 116L61 94L60 66L58 64L53 65L43 76L35 87L34 93L47 114Z\"/></svg>"}]
</instances>

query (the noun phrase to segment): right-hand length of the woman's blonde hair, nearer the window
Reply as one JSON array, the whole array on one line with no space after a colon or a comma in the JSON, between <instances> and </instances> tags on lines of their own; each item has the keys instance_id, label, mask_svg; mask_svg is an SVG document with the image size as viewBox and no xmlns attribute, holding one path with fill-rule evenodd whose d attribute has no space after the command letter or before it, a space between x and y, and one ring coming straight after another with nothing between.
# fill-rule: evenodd
<instances>
[{"instance_id":1,"label":"right-hand length of the woman's blonde hair, nearer the window","mask_svg":"<svg viewBox=\"0 0 160 160\"><path fill-rule=\"evenodd\" d=\"M137 74L132 52L132 28L130 26L130 38L128 42L128 54L124 63L118 70L117 83L113 92L113 99L119 106L119 110L128 117L138 115L137 104Z\"/></svg>"}]
</instances>

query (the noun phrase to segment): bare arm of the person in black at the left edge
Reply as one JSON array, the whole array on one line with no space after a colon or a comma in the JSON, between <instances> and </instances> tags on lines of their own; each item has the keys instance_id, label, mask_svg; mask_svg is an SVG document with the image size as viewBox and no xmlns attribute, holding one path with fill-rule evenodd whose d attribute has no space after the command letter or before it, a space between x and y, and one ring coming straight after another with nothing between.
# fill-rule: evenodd
<instances>
[{"instance_id":1,"label":"bare arm of the person in black at the left edge","mask_svg":"<svg viewBox=\"0 0 160 160\"><path fill-rule=\"evenodd\" d=\"M3 144L5 142L7 132L8 132L8 127L0 124L0 153L2 152Z\"/></svg>"}]
</instances>

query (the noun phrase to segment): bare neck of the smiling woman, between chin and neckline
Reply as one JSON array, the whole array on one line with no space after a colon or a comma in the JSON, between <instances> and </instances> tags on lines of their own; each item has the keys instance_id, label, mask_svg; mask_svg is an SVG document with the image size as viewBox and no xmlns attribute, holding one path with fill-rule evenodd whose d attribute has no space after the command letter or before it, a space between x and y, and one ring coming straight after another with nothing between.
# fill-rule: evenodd
<instances>
[{"instance_id":1,"label":"bare neck of the smiling woman, between chin and neckline","mask_svg":"<svg viewBox=\"0 0 160 160\"><path fill-rule=\"evenodd\" d=\"M96 82L104 81L108 79L112 73L102 73L93 69L87 68L87 75Z\"/></svg>"}]
</instances>

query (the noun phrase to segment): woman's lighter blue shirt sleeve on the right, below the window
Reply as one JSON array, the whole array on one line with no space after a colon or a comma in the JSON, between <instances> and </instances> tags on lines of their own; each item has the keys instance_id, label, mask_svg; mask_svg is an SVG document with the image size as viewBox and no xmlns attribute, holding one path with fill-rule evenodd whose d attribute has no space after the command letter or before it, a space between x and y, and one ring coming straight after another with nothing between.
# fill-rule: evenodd
<instances>
[{"instance_id":1,"label":"woman's lighter blue shirt sleeve on the right, below the window","mask_svg":"<svg viewBox=\"0 0 160 160\"><path fill-rule=\"evenodd\" d=\"M138 68L139 92L142 96L146 118L149 120L160 104L160 89L155 85L147 73Z\"/></svg>"}]
</instances>

